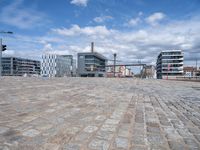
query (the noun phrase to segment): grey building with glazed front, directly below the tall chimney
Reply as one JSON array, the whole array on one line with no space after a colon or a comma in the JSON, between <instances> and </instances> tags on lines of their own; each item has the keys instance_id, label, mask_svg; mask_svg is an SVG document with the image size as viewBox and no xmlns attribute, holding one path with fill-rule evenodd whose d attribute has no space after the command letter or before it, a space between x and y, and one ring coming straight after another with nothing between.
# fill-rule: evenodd
<instances>
[{"instance_id":1,"label":"grey building with glazed front, directly below the tall chimney","mask_svg":"<svg viewBox=\"0 0 200 150\"><path fill-rule=\"evenodd\" d=\"M106 57L97 52L78 53L78 76L104 77L106 64Z\"/></svg>"}]
</instances>

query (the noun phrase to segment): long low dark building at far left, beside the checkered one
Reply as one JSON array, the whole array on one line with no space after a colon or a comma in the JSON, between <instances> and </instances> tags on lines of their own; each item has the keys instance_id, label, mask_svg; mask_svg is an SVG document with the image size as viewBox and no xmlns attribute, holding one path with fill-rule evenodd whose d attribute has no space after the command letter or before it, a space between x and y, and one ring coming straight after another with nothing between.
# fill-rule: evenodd
<instances>
[{"instance_id":1,"label":"long low dark building at far left, beside the checkered one","mask_svg":"<svg viewBox=\"0 0 200 150\"><path fill-rule=\"evenodd\" d=\"M40 61L17 57L2 57L2 68L3 76L39 75Z\"/></svg>"}]
</instances>

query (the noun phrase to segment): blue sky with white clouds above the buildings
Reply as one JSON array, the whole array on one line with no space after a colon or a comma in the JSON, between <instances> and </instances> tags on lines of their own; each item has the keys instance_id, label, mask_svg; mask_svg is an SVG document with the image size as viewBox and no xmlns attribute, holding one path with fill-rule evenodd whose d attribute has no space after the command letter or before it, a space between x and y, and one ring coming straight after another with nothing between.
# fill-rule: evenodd
<instances>
[{"instance_id":1,"label":"blue sky with white clouds above the buildings","mask_svg":"<svg viewBox=\"0 0 200 150\"><path fill-rule=\"evenodd\" d=\"M0 0L5 55L90 50L121 63L156 61L161 50L182 49L185 65L200 62L200 0Z\"/></svg>"}]
</instances>

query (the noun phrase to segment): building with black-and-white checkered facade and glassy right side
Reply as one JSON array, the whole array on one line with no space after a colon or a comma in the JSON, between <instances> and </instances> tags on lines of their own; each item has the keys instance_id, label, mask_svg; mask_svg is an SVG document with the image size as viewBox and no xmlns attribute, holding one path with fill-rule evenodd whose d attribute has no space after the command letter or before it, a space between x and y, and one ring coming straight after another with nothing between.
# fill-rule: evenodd
<instances>
[{"instance_id":1,"label":"building with black-and-white checkered facade and glassy right side","mask_svg":"<svg viewBox=\"0 0 200 150\"><path fill-rule=\"evenodd\" d=\"M41 75L45 77L75 76L76 64L72 55L42 55Z\"/></svg>"}]
</instances>

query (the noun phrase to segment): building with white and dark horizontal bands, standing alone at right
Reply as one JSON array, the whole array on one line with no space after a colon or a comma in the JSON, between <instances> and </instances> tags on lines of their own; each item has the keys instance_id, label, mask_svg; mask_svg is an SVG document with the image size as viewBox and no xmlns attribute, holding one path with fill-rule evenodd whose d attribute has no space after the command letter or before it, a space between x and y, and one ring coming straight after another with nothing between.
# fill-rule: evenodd
<instances>
[{"instance_id":1,"label":"building with white and dark horizontal bands, standing alone at right","mask_svg":"<svg viewBox=\"0 0 200 150\"><path fill-rule=\"evenodd\" d=\"M176 79L183 76L182 50L165 50L157 57L156 73L158 79Z\"/></svg>"}]
</instances>

